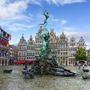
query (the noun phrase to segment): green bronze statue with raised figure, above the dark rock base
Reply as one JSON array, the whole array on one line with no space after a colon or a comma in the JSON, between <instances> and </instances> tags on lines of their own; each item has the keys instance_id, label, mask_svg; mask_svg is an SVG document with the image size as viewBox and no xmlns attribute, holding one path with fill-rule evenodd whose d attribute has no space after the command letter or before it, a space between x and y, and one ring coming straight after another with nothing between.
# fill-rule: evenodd
<instances>
[{"instance_id":1,"label":"green bronze statue with raised figure, above the dark rock base","mask_svg":"<svg viewBox=\"0 0 90 90\"><path fill-rule=\"evenodd\" d=\"M46 28L46 26L48 24L47 19L49 18L47 9L44 11L44 15L45 15L44 23L40 23L39 25L45 25L45 26L44 26L42 32L38 35L42 39L42 47L40 49L40 51L41 51L40 57L41 58L48 57L48 54L50 53L50 49L48 46L50 36L49 36L49 32Z\"/></svg>"}]
</instances>

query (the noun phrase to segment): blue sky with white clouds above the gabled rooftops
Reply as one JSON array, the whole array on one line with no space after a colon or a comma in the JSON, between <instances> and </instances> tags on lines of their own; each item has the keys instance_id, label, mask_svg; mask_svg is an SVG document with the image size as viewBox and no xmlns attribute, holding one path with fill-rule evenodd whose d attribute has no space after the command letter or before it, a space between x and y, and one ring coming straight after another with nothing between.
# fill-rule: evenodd
<instances>
[{"instance_id":1,"label":"blue sky with white clouds above the gabled rooftops","mask_svg":"<svg viewBox=\"0 0 90 90\"><path fill-rule=\"evenodd\" d=\"M48 30L54 29L57 36L64 30L70 40L79 41L82 36L90 48L90 0L0 0L0 26L12 35L10 44L17 44L24 34L26 40L33 38L39 23L48 9Z\"/></svg>"}]
</instances>

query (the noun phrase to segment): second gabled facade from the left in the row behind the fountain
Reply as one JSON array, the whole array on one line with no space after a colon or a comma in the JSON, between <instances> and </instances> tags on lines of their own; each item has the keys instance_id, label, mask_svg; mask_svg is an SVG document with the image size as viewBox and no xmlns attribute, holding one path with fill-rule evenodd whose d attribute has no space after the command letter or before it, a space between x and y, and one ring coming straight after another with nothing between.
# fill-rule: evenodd
<instances>
[{"instance_id":1,"label":"second gabled facade from the left in the row behind the fountain","mask_svg":"<svg viewBox=\"0 0 90 90\"><path fill-rule=\"evenodd\" d=\"M34 47L34 40L32 38L32 35L30 35L30 38L27 41L26 59L27 60L35 59L35 47Z\"/></svg>"}]
</instances>

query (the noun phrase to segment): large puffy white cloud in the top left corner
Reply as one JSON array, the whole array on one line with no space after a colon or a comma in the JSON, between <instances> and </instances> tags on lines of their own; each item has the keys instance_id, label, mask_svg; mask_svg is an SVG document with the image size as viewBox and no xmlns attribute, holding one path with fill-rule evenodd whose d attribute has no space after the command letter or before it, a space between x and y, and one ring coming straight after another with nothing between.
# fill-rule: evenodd
<instances>
[{"instance_id":1,"label":"large puffy white cloud in the top left corner","mask_svg":"<svg viewBox=\"0 0 90 90\"><path fill-rule=\"evenodd\" d=\"M13 17L27 9L27 0L15 0L13 3L7 3L7 1L9 0L1 1L2 4L0 4L0 19Z\"/></svg>"}]
</instances>

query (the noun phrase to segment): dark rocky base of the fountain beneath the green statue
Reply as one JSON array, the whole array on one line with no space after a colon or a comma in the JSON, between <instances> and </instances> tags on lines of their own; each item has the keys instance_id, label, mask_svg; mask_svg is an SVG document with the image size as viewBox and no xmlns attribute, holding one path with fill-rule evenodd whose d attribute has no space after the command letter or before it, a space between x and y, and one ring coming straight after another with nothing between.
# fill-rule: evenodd
<instances>
[{"instance_id":1,"label":"dark rocky base of the fountain beneath the green statue","mask_svg":"<svg viewBox=\"0 0 90 90\"><path fill-rule=\"evenodd\" d=\"M75 72L59 66L54 56L52 56L52 58L36 57L36 61L31 67L30 72L39 75L75 76Z\"/></svg>"}]
</instances>

